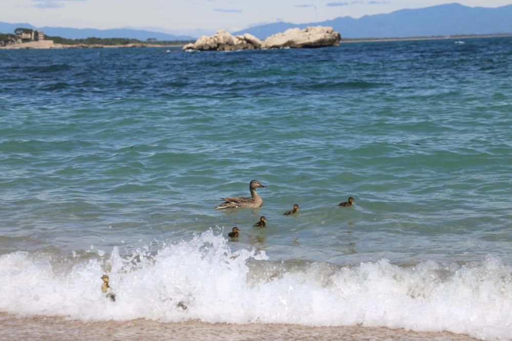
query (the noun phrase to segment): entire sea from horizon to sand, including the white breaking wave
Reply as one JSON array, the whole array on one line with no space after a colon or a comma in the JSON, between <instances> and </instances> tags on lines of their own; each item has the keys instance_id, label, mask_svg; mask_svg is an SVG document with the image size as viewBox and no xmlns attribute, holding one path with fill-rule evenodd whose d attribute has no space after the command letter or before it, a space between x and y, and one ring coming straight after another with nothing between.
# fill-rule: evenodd
<instances>
[{"instance_id":1,"label":"entire sea from horizon to sand, including the white breaking wave","mask_svg":"<svg viewBox=\"0 0 512 341\"><path fill-rule=\"evenodd\" d=\"M0 51L9 324L512 338L512 38L166 51Z\"/></svg>"}]
</instances>

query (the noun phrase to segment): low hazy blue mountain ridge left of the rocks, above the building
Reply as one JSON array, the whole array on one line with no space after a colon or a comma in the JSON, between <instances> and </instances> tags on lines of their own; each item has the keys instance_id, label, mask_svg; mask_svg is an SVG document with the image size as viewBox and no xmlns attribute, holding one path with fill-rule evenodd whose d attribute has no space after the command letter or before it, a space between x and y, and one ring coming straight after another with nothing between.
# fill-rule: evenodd
<instances>
[{"instance_id":1,"label":"low hazy blue mountain ridge left of the rocks, above the building","mask_svg":"<svg viewBox=\"0 0 512 341\"><path fill-rule=\"evenodd\" d=\"M0 32L13 33L15 29L23 27L32 30L40 30L49 36L59 36L69 39L84 39L89 37L96 38L130 38L146 40L148 38L155 38L157 40L195 40L195 37L187 35L174 35L161 32L151 32L146 30L136 29L110 29L110 30L97 30L97 29L74 29L67 27L34 27L27 23L9 24L8 22L0 21Z\"/></svg>"}]
</instances>

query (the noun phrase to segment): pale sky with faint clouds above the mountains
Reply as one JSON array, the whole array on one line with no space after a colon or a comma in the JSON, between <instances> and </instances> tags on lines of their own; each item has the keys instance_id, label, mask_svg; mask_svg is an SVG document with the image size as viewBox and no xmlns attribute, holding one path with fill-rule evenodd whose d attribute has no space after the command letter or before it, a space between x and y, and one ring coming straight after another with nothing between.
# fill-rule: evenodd
<instances>
[{"instance_id":1,"label":"pale sky with faint clouds above the mountains","mask_svg":"<svg viewBox=\"0 0 512 341\"><path fill-rule=\"evenodd\" d=\"M0 0L0 21L36 27L144 28L193 34L287 21L297 24L339 16L390 13L458 2L498 7L511 0Z\"/></svg>"}]
</instances>

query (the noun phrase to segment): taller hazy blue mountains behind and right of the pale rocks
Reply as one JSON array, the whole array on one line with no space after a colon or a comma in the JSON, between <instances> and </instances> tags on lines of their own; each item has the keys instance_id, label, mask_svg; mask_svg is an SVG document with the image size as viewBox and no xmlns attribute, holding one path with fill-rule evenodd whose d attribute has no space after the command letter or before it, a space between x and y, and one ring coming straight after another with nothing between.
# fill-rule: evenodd
<instances>
[{"instance_id":1,"label":"taller hazy blue mountains behind and right of the pale rocks","mask_svg":"<svg viewBox=\"0 0 512 341\"><path fill-rule=\"evenodd\" d=\"M250 27L232 34L250 33L264 39L290 28L303 29L317 25L332 26L342 35L342 38L512 33L512 5L487 8L446 4L420 9L403 9L389 14L365 15L358 19L345 16L307 24L275 22Z\"/></svg>"}]
</instances>

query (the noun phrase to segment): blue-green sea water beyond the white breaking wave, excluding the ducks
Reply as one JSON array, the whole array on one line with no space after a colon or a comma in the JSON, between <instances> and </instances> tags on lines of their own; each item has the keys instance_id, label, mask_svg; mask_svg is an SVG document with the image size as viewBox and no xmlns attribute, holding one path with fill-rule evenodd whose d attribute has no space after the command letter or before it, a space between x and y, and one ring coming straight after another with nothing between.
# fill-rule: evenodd
<instances>
[{"instance_id":1,"label":"blue-green sea water beyond the white breaking wave, excluding the ducks","mask_svg":"<svg viewBox=\"0 0 512 341\"><path fill-rule=\"evenodd\" d=\"M387 259L491 276L492 259L510 288L512 38L455 41L0 51L0 255L108 270L115 246L154 255L238 226L231 251L285 272ZM262 208L214 210L252 179Z\"/></svg>"}]
</instances>

